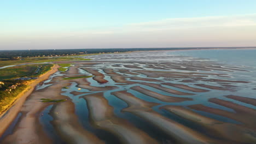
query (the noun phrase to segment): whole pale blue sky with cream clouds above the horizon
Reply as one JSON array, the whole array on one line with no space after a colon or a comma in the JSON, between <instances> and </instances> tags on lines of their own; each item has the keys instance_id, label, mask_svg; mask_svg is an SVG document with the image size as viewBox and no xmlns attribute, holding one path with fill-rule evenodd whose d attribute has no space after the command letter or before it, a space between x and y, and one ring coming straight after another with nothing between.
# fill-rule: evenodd
<instances>
[{"instance_id":1,"label":"whole pale blue sky with cream clouds above the horizon","mask_svg":"<svg viewBox=\"0 0 256 144\"><path fill-rule=\"evenodd\" d=\"M1 0L0 50L256 46L255 0Z\"/></svg>"}]
</instances>

